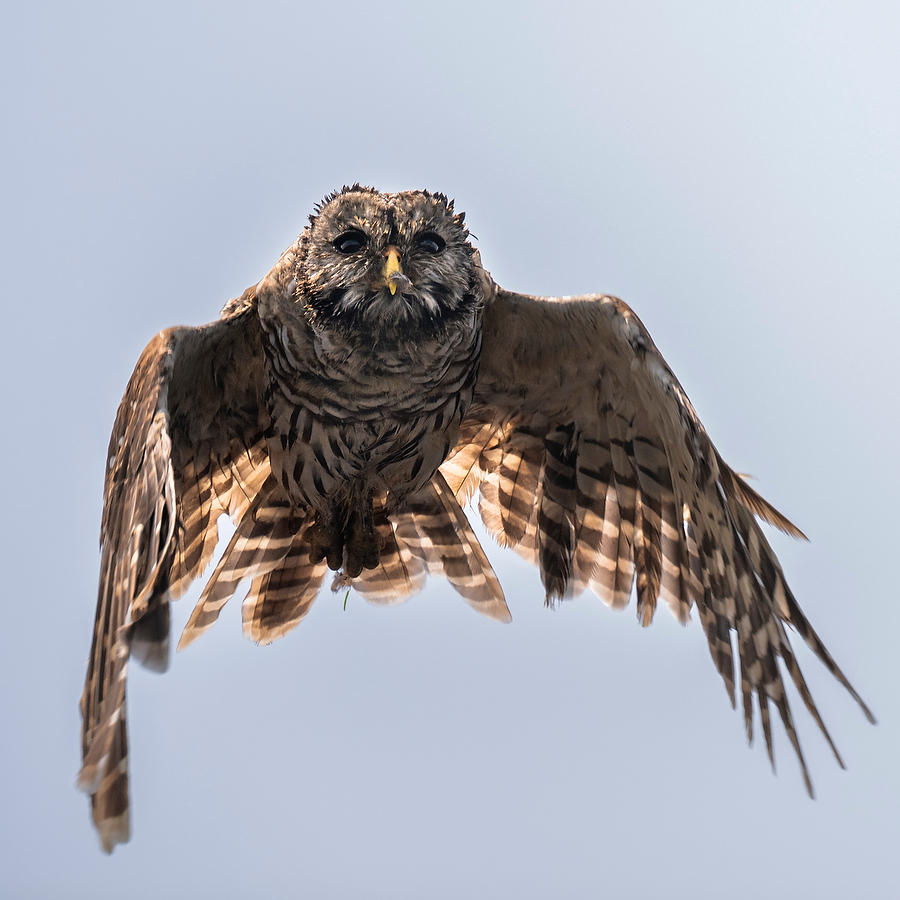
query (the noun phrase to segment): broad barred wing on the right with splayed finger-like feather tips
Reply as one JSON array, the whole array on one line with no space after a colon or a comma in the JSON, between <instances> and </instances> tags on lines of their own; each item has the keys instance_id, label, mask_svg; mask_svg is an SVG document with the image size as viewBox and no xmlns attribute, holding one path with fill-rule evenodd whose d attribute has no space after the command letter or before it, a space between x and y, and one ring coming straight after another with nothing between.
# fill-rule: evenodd
<instances>
[{"instance_id":1,"label":"broad barred wing on the right with splayed finger-like feather tips","mask_svg":"<svg viewBox=\"0 0 900 900\"><path fill-rule=\"evenodd\" d=\"M755 694L770 758L771 702L812 794L779 658L843 763L786 625L872 715L801 612L755 517L801 532L724 463L625 303L488 288L475 400L442 467L451 488L461 500L479 492L488 529L540 568L548 604L589 587L623 607L636 585L643 625L660 596L682 622L696 606L732 705L737 662L748 738Z\"/></svg>"}]
</instances>

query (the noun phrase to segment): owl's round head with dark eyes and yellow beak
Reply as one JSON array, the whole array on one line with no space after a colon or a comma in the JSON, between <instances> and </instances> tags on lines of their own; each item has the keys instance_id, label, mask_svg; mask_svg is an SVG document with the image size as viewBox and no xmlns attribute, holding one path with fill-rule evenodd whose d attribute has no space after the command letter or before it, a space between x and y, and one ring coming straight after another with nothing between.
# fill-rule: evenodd
<instances>
[{"instance_id":1,"label":"owl's round head with dark eyes and yellow beak","mask_svg":"<svg viewBox=\"0 0 900 900\"><path fill-rule=\"evenodd\" d=\"M304 234L298 300L319 329L361 341L439 336L482 302L463 214L443 194L354 185Z\"/></svg>"}]
</instances>

